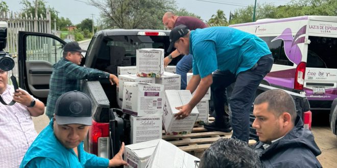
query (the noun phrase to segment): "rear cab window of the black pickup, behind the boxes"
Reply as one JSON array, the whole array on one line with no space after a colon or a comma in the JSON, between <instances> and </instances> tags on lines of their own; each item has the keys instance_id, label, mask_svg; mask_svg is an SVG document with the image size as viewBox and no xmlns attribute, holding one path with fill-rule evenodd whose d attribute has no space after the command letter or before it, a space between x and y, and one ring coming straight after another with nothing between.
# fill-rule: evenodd
<instances>
[{"instance_id":1,"label":"rear cab window of the black pickup, behind the boxes","mask_svg":"<svg viewBox=\"0 0 337 168\"><path fill-rule=\"evenodd\" d=\"M108 36L103 40L94 68L116 74L117 66L135 66L136 49L163 48L170 45L168 36ZM168 55L165 53L165 56Z\"/></svg>"}]
</instances>

